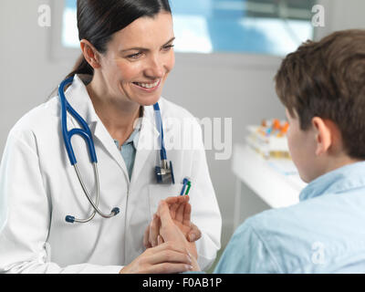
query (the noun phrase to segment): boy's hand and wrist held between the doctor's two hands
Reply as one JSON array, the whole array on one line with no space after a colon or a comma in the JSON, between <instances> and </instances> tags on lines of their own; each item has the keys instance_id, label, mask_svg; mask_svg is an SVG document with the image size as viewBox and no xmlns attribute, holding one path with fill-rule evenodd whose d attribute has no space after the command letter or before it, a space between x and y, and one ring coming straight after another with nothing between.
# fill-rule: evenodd
<instances>
[{"instance_id":1,"label":"boy's hand and wrist held between the doctor's two hands","mask_svg":"<svg viewBox=\"0 0 365 292\"><path fill-rule=\"evenodd\" d=\"M192 259L193 271L200 271L200 267L196 260L196 246L194 243L190 243L186 240L186 236L183 235L181 228L172 220L171 210L165 201L161 201L159 204L157 218L161 223L160 235L158 235L158 246L164 245L164 242L173 242L174 244L185 246Z\"/></svg>"}]
</instances>

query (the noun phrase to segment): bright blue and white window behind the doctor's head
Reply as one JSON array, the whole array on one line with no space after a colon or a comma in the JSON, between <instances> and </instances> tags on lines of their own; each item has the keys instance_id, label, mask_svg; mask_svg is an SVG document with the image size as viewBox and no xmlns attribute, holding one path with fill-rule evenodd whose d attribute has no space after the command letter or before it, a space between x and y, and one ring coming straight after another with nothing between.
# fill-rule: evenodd
<instances>
[{"instance_id":1,"label":"bright blue and white window behind the doctor's head","mask_svg":"<svg viewBox=\"0 0 365 292\"><path fill-rule=\"evenodd\" d=\"M62 46L79 47L76 0L64 0ZM175 51L285 56L313 38L314 0L170 0Z\"/></svg>"}]
</instances>

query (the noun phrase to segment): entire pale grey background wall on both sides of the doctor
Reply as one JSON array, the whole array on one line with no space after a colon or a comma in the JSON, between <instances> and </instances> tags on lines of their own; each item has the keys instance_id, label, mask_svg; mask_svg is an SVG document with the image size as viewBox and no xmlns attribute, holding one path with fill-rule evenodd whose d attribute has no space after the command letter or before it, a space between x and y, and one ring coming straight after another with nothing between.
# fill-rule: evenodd
<instances>
[{"instance_id":1,"label":"entire pale grey background wall on both sides of the doctor","mask_svg":"<svg viewBox=\"0 0 365 292\"><path fill-rule=\"evenodd\" d=\"M16 120L44 102L75 62L50 57L52 27L37 25L38 6L50 3L0 1L0 153ZM319 36L342 28L365 27L365 1L323 3L327 26L319 31ZM245 125L284 117L273 82L279 62L276 57L255 55L177 55L163 96L191 110L198 118L232 118L233 142L244 141ZM214 153L207 151L208 163L224 217L225 235L229 236L235 179L231 162L214 160ZM244 202L243 219L266 208L248 189L245 193L250 199Z\"/></svg>"}]
</instances>

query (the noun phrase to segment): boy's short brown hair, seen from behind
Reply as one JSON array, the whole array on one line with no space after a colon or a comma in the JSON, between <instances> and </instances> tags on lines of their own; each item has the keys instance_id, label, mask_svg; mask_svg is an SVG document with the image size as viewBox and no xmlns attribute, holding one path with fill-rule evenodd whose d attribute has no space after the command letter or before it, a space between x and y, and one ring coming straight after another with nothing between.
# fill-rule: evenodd
<instances>
[{"instance_id":1,"label":"boy's short brown hair, seen from behind","mask_svg":"<svg viewBox=\"0 0 365 292\"><path fill-rule=\"evenodd\" d=\"M352 158L365 159L365 30L307 41L276 73L276 93L301 130L314 117L332 120Z\"/></svg>"}]
</instances>

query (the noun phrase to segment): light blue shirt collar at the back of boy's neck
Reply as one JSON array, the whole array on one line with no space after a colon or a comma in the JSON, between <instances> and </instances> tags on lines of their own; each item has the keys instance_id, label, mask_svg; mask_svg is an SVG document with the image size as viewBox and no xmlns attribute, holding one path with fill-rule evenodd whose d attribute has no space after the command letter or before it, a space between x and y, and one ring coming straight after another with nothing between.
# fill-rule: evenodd
<instances>
[{"instance_id":1,"label":"light blue shirt collar at the back of boy's neck","mask_svg":"<svg viewBox=\"0 0 365 292\"><path fill-rule=\"evenodd\" d=\"M299 195L305 201L328 193L343 193L365 186L365 162L355 162L325 173L308 183Z\"/></svg>"}]
</instances>

